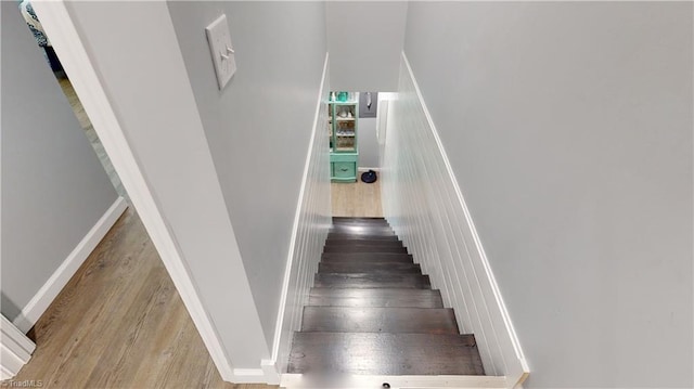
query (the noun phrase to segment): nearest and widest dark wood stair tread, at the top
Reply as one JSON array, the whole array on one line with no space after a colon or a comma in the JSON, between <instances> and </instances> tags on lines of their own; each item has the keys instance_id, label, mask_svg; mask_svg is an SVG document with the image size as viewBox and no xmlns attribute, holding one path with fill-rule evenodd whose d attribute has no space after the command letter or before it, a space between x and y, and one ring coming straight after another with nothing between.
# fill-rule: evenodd
<instances>
[{"instance_id":1,"label":"nearest and widest dark wood stair tread, at the top","mask_svg":"<svg viewBox=\"0 0 694 389\"><path fill-rule=\"evenodd\" d=\"M472 335L295 333L288 373L484 375Z\"/></svg>"}]
</instances>

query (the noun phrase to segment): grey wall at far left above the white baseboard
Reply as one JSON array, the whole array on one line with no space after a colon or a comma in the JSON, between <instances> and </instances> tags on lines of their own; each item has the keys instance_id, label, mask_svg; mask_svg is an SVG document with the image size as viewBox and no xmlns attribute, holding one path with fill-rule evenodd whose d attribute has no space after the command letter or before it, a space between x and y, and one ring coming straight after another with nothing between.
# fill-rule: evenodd
<instances>
[{"instance_id":1,"label":"grey wall at far left above the white baseboard","mask_svg":"<svg viewBox=\"0 0 694 389\"><path fill-rule=\"evenodd\" d=\"M2 314L14 320L118 196L16 2L0 7Z\"/></svg>"}]
</instances>

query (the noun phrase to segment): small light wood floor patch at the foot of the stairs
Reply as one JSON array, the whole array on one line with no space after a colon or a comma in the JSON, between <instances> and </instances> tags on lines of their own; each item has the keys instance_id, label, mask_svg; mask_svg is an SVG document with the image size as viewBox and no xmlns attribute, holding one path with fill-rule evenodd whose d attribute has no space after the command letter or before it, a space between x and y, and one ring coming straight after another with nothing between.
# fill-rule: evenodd
<instances>
[{"instance_id":1,"label":"small light wood floor patch at the foot of the stairs","mask_svg":"<svg viewBox=\"0 0 694 389\"><path fill-rule=\"evenodd\" d=\"M361 172L359 173L361 174ZM372 184L331 183L333 216L383 218L381 207L381 177Z\"/></svg>"}]
</instances>

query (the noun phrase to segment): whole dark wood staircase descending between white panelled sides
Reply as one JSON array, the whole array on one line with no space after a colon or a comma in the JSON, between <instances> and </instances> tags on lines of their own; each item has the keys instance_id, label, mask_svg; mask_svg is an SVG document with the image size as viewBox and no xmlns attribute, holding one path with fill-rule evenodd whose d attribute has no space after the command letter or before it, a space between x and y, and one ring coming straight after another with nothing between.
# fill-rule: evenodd
<instances>
[{"instance_id":1,"label":"whole dark wood staircase descending between white panelled sides","mask_svg":"<svg viewBox=\"0 0 694 389\"><path fill-rule=\"evenodd\" d=\"M474 335L384 219L333 218L287 373L484 375Z\"/></svg>"}]
</instances>

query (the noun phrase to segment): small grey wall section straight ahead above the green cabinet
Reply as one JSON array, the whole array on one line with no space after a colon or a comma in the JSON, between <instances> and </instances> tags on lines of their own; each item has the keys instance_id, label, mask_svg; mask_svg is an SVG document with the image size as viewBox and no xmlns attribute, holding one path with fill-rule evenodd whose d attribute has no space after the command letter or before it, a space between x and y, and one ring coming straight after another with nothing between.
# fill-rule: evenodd
<instances>
[{"instance_id":1,"label":"small grey wall section straight ahead above the green cabinet","mask_svg":"<svg viewBox=\"0 0 694 389\"><path fill-rule=\"evenodd\" d=\"M395 91L404 39L406 1L329 1L331 88Z\"/></svg>"}]
</instances>

